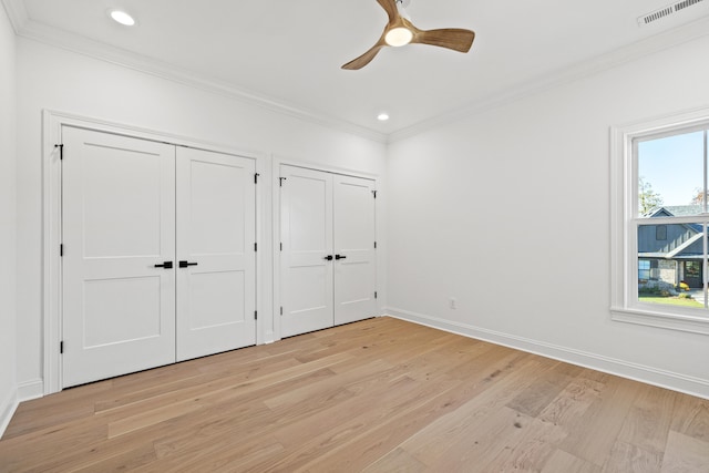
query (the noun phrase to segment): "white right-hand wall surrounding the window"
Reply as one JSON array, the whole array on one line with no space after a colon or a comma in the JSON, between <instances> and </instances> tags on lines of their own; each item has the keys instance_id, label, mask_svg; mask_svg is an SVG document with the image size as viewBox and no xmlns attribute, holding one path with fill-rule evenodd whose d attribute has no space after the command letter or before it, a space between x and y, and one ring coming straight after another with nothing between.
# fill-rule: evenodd
<instances>
[{"instance_id":1,"label":"white right-hand wall surrounding the window","mask_svg":"<svg viewBox=\"0 0 709 473\"><path fill-rule=\"evenodd\" d=\"M706 336L609 315L609 126L709 105L707 51L705 37L391 144L390 313L709 398Z\"/></svg>"}]
</instances>

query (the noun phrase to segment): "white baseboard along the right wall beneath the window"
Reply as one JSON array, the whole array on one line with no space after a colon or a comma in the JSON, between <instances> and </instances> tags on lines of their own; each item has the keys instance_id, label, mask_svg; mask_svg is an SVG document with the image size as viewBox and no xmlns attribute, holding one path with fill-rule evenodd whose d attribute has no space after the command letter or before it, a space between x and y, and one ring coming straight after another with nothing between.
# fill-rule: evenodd
<instances>
[{"instance_id":1,"label":"white baseboard along the right wall beneath the window","mask_svg":"<svg viewBox=\"0 0 709 473\"><path fill-rule=\"evenodd\" d=\"M709 399L709 380L659 370L653 367L474 327L466 323L454 322L438 317L415 313L410 310L398 309L394 307L387 308L386 312L389 317L397 319L552 358L554 360L682 392L685 394Z\"/></svg>"}]
</instances>

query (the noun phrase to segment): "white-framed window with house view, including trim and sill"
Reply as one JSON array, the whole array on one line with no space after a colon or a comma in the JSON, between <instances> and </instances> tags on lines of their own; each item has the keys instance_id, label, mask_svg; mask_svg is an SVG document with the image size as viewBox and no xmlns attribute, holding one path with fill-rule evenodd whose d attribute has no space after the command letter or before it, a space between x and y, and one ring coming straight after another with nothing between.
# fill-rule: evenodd
<instances>
[{"instance_id":1,"label":"white-framed window with house view, including trim and sill","mask_svg":"<svg viewBox=\"0 0 709 473\"><path fill-rule=\"evenodd\" d=\"M709 110L612 140L613 319L709 333Z\"/></svg>"}]
</instances>

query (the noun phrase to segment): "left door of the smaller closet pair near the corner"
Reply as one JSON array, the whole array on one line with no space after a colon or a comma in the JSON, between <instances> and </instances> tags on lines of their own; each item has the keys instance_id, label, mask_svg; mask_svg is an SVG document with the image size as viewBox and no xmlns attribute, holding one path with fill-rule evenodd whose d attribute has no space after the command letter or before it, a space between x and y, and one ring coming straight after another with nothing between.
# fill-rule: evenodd
<instances>
[{"instance_id":1,"label":"left door of the smaller closet pair near the corner","mask_svg":"<svg viewBox=\"0 0 709 473\"><path fill-rule=\"evenodd\" d=\"M280 329L290 337L333 323L332 176L281 165L280 177Z\"/></svg>"}]
</instances>

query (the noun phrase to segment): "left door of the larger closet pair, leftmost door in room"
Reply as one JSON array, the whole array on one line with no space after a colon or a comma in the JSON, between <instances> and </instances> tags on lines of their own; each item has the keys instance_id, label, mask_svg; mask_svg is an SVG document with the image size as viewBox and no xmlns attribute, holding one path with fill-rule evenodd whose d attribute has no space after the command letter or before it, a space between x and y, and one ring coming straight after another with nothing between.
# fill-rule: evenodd
<instances>
[{"instance_id":1,"label":"left door of the larger closet pair, leftmost door in room","mask_svg":"<svg viewBox=\"0 0 709 473\"><path fill-rule=\"evenodd\" d=\"M175 361L175 156L65 126L63 385Z\"/></svg>"}]
</instances>

